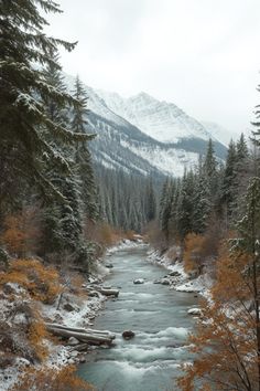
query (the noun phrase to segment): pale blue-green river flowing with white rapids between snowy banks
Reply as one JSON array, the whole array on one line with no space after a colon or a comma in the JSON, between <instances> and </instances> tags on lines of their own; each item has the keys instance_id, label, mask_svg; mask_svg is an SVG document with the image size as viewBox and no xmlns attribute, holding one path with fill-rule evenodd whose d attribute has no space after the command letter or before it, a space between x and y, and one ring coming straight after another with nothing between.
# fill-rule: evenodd
<instances>
[{"instance_id":1,"label":"pale blue-green river flowing with white rapids between snowy banks","mask_svg":"<svg viewBox=\"0 0 260 391\"><path fill-rule=\"evenodd\" d=\"M191 293L153 284L166 273L147 261L147 251L140 245L109 257L113 268L106 284L121 289L117 299L106 302L94 327L116 332L116 346L89 353L78 370L98 391L176 391L180 363L192 359L186 337L194 320L187 309L197 299ZM134 285L136 278L145 278L145 283ZM121 332L128 329L136 337L123 340Z\"/></svg>"}]
</instances>

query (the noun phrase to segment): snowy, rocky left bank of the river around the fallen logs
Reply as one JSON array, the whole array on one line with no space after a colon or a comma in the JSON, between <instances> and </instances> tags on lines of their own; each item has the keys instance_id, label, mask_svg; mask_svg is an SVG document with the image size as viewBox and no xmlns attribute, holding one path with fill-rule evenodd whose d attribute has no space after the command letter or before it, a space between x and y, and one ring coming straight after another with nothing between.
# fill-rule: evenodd
<instances>
[{"instance_id":1,"label":"snowy, rocky left bank of the river around the fallen logs","mask_svg":"<svg viewBox=\"0 0 260 391\"><path fill-rule=\"evenodd\" d=\"M120 249L136 247L137 245L137 242L124 240L118 245L109 249L104 260L97 261L88 281L84 282L79 278L78 282L74 282L74 285L78 285L79 287L83 282L101 285L106 278L106 275L109 274L109 268L106 267L106 261L109 260L110 254ZM7 327L9 327L10 330L13 329L13 334L17 332L17 346L20 347L22 344L25 345L24 348L21 347L21 351L23 350L24 355L13 355L11 352L0 355L1 391L12 389L18 381L19 376L28 368L33 368L35 370L44 369L46 371L59 371L67 366L78 364L79 362L85 361L85 356L93 349L91 347L87 348L85 352L82 352L77 350L77 344L75 340L57 344L52 338L46 338L44 341L44 347L46 348L47 357L43 360L43 362L35 362L32 366L31 360L25 358L28 356L28 347L20 331L20 329L23 327L25 328L28 325L28 320L24 318L25 315L23 314L24 305L29 305L30 307L36 306L35 310L39 316L47 324L58 324L66 327L77 328L91 328L94 325L93 321L98 311L100 311L104 307L104 303L107 297L99 293L91 295L90 293L87 294L87 292L84 292L84 289L76 290L78 292L73 292L73 289L65 288L61 300L57 298L53 304L43 304L41 302L34 303L19 284L6 284L4 290L0 297L2 320L7 321ZM11 300L10 297L12 298ZM21 307L21 309L19 309L15 315L17 307ZM9 320L10 314L13 313L14 317L12 315L11 320Z\"/></svg>"}]
</instances>

